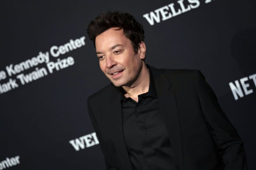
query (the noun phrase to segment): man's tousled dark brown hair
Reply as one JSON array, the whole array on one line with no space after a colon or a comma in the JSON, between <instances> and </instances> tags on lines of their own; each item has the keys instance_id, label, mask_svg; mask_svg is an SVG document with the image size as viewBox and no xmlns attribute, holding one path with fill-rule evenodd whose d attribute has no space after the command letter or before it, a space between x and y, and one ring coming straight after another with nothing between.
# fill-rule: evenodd
<instances>
[{"instance_id":1,"label":"man's tousled dark brown hair","mask_svg":"<svg viewBox=\"0 0 256 170\"><path fill-rule=\"evenodd\" d=\"M103 12L90 22L87 34L93 41L94 47L96 36L112 27L123 28L124 35L132 42L134 52L138 53L139 43L145 38L143 26L131 14L118 11Z\"/></svg>"}]
</instances>

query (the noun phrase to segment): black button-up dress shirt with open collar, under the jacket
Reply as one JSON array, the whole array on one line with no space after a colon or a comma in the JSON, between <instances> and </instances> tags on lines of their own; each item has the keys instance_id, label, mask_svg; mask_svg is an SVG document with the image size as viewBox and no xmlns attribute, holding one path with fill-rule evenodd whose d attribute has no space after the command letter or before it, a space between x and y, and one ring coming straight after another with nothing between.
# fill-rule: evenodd
<instances>
[{"instance_id":1,"label":"black button-up dress shirt with open collar, under the jacket","mask_svg":"<svg viewBox=\"0 0 256 170\"><path fill-rule=\"evenodd\" d=\"M138 103L121 89L123 130L134 170L178 170L169 135L161 116L153 75L149 89L138 95Z\"/></svg>"}]
</instances>

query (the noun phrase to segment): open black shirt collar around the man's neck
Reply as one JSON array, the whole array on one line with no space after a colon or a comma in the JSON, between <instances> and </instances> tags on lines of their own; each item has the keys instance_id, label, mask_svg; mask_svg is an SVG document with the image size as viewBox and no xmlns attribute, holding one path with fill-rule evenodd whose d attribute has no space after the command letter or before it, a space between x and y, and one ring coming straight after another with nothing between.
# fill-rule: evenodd
<instances>
[{"instance_id":1,"label":"open black shirt collar around the man's neck","mask_svg":"<svg viewBox=\"0 0 256 170\"><path fill-rule=\"evenodd\" d=\"M152 74L152 71L150 70L150 67L148 67L149 70L149 88L148 88L148 92L144 93L144 94L140 94L139 96L150 96L150 97L155 97L157 98L157 94L156 94L156 86L155 86L155 82L154 82L154 77ZM127 98L124 96L124 94L126 93L125 90L122 87L120 88L120 100L126 100Z\"/></svg>"}]
</instances>

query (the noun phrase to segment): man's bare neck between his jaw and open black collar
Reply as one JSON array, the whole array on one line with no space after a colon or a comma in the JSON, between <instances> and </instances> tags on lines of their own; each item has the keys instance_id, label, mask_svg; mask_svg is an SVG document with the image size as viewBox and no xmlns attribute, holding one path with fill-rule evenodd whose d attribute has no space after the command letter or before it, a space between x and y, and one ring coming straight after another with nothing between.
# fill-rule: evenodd
<instances>
[{"instance_id":1,"label":"man's bare neck between his jaw and open black collar","mask_svg":"<svg viewBox=\"0 0 256 170\"><path fill-rule=\"evenodd\" d=\"M146 64L142 65L137 80L131 86L122 87L126 91L125 97L131 97L138 102L138 95L148 92L149 89L149 70Z\"/></svg>"}]
</instances>

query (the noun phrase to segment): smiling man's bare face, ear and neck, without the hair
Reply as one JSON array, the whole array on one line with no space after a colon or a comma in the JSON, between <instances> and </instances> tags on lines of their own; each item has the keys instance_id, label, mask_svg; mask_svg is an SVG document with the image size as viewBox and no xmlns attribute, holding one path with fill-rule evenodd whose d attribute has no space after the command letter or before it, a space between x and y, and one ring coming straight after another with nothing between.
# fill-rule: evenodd
<instances>
[{"instance_id":1,"label":"smiling man's bare face, ear and neck, without the hair","mask_svg":"<svg viewBox=\"0 0 256 170\"><path fill-rule=\"evenodd\" d=\"M149 72L143 61L145 43L141 41L135 53L124 29L113 27L96 36L95 46L102 72L115 86L123 87L125 97L138 102L137 93L145 93L149 87Z\"/></svg>"}]
</instances>

